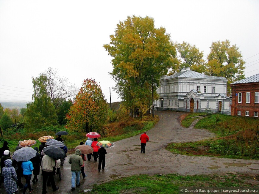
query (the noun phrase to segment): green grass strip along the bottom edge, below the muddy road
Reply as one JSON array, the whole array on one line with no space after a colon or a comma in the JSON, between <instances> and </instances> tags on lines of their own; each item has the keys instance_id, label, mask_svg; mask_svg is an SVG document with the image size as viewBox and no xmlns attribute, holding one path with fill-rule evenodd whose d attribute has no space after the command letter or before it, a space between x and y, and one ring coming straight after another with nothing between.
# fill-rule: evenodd
<instances>
[{"instance_id":1,"label":"green grass strip along the bottom edge, below the muddy road","mask_svg":"<svg viewBox=\"0 0 259 194\"><path fill-rule=\"evenodd\" d=\"M89 194L168 194L180 193L188 187L258 187L257 177L242 174L227 175L139 175L112 180L103 184L94 184ZM256 182L256 184L254 183Z\"/></svg>"}]
</instances>

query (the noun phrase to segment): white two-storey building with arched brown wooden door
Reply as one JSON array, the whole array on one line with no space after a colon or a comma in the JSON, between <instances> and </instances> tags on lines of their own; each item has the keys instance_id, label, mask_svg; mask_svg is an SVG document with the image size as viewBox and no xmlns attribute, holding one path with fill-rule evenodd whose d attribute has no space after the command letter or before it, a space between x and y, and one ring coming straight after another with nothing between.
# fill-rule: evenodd
<instances>
[{"instance_id":1,"label":"white two-storey building with arched brown wooden door","mask_svg":"<svg viewBox=\"0 0 259 194\"><path fill-rule=\"evenodd\" d=\"M227 79L224 77L208 76L186 68L170 76L161 76L157 93L160 99L154 103L163 110L230 115L231 99L227 97Z\"/></svg>"}]
</instances>

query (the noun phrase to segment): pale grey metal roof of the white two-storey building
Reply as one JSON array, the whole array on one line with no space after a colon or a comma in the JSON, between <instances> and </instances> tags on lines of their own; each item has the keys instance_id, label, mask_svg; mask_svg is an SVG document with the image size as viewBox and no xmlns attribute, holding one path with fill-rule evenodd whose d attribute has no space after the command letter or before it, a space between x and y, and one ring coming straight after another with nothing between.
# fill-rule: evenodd
<instances>
[{"instance_id":1,"label":"pale grey metal roof of the white two-storey building","mask_svg":"<svg viewBox=\"0 0 259 194\"><path fill-rule=\"evenodd\" d=\"M198 73L192 70L187 70L184 72L179 72L170 76L166 76L168 78L202 78L202 79L216 79L216 80L227 80L224 77L217 77L217 76L209 76L209 75L204 75L202 73Z\"/></svg>"}]
</instances>

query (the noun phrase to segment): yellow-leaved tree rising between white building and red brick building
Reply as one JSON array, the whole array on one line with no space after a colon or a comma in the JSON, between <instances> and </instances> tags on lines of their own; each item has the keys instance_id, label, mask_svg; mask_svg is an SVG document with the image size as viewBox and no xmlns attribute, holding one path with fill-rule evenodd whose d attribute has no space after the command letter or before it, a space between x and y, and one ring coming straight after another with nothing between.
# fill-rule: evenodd
<instances>
[{"instance_id":1,"label":"yellow-leaved tree rising between white building and red brick building","mask_svg":"<svg viewBox=\"0 0 259 194\"><path fill-rule=\"evenodd\" d=\"M236 45L230 45L229 40L212 42L207 60L205 74L225 77L228 84L244 79L242 54ZM228 94L231 94L229 85Z\"/></svg>"}]
</instances>

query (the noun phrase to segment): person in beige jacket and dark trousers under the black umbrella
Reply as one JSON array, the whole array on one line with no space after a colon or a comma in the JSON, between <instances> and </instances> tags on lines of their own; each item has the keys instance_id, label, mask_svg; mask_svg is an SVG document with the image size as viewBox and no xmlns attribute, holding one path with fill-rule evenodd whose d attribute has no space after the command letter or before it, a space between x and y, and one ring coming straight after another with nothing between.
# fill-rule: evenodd
<instances>
[{"instance_id":1,"label":"person in beige jacket and dark trousers under the black umbrella","mask_svg":"<svg viewBox=\"0 0 259 194\"><path fill-rule=\"evenodd\" d=\"M42 168L42 194L46 194L46 184L47 179L49 177L49 181L52 186L52 190L56 191L59 189L59 187L56 187L55 181L54 181L54 175L53 175L53 168L56 165L54 158L49 157L48 155L43 156L41 160L41 168Z\"/></svg>"}]
</instances>

